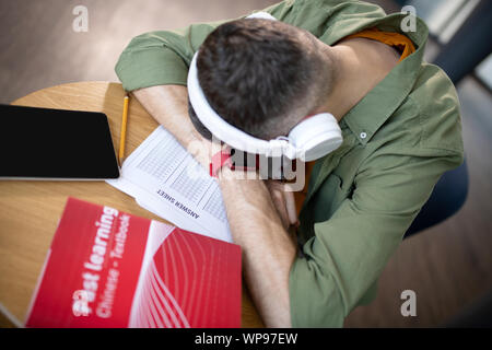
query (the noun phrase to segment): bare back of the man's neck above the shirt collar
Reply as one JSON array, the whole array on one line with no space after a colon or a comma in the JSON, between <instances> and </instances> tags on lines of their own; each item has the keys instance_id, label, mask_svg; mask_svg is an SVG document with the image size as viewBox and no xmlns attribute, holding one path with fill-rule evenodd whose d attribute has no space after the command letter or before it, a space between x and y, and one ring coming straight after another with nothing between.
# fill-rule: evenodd
<instances>
[{"instance_id":1,"label":"bare back of the man's neck above the shirt collar","mask_svg":"<svg viewBox=\"0 0 492 350\"><path fill-rule=\"evenodd\" d=\"M319 110L330 112L337 120L352 109L398 63L398 54L389 46L368 39L349 39L332 46L333 89Z\"/></svg>"}]
</instances>

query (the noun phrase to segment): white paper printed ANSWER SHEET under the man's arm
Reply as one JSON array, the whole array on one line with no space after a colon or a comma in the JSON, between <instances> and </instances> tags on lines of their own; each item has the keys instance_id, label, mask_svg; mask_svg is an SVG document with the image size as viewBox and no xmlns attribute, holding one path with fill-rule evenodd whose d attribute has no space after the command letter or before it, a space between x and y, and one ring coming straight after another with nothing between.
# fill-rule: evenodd
<instances>
[{"instance_id":1,"label":"white paper printed ANSWER SHEET under the man's arm","mask_svg":"<svg viewBox=\"0 0 492 350\"><path fill-rule=\"evenodd\" d=\"M162 126L106 182L183 230L232 242L216 179Z\"/></svg>"}]
</instances>

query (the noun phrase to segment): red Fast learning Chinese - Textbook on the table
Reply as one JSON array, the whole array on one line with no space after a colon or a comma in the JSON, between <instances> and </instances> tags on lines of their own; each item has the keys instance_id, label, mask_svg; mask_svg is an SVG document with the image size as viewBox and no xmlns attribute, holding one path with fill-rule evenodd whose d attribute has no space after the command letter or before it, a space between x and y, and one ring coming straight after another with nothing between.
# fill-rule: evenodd
<instances>
[{"instance_id":1,"label":"red Fast learning Chinese - Textbook on the table","mask_svg":"<svg viewBox=\"0 0 492 350\"><path fill-rule=\"evenodd\" d=\"M241 327L241 248L69 198L26 327Z\"/></svg>"}]
</instances>

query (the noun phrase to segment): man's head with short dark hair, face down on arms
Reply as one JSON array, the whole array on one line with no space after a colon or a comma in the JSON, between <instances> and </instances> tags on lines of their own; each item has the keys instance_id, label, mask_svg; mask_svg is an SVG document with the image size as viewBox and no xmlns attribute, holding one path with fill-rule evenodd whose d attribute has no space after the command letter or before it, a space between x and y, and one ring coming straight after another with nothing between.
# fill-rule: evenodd
<instances>
[{"instance_id":1,"label":"man's head with short dark hair, face down on arms","mask_svg":"<svg viewBox=\"0 0 492 350\"><path fill-rule=\"evenodd\" d=\"M286 135L324 102L333 81L323 43L294 26L260 19L219 26L202 44L197 68L210 106L261 139ZM191 105L189 114L210 138Z\"/></svg>"}]
</instances>

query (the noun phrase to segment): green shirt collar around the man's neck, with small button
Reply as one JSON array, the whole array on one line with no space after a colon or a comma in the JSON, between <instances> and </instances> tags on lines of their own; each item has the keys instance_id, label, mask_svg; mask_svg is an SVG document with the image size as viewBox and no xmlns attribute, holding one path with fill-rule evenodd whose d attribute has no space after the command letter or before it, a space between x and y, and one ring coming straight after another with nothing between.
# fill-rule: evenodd
<instances>
[{"instance_id":1,"label":"green shirt collar around the man's neck, with small button","mask_svg":"<svg viewBox=\"0 0 492 350\"><path fill-rule=\"evenodd\" d=\"M368 27L377 27L385 32L398 32L407 35L415 45L415 51L399 62L367 95L365 95L342 118L342 122L351 129L359 142L366 144L380 126L401 105L411 92L422 63L423 51L429 36L426 24L415 18L415 32L403 33L400 23L407 14L395 13L383 19L361 21L359 25L331 30L320 37L328 45L333 45L343 37ZM337 33L336 35L333 33Z\"/></svg>"}]
</instances>

